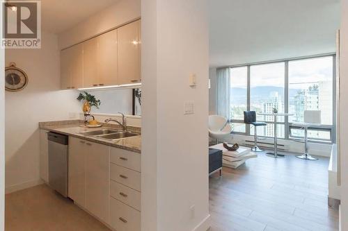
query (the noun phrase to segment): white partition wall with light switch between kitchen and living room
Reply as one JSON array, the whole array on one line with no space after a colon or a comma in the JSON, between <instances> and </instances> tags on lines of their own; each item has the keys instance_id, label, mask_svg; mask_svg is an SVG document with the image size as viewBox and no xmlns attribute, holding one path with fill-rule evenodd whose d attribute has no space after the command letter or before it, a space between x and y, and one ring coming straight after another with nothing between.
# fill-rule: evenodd
<instances>
[{"instance_id":1,"label":"white partition wall with light switch between kitchen and living room","mask_svg":"<svg viewBox=\"0 0 348 231\"><path fill-rule=\"evenodd\" d=\"M142 230L207 230L207 1L141 4ZM196 88L189 87L192 73ZM185 101L194 114L184 115Z\"/></svg>"}]
</instances>

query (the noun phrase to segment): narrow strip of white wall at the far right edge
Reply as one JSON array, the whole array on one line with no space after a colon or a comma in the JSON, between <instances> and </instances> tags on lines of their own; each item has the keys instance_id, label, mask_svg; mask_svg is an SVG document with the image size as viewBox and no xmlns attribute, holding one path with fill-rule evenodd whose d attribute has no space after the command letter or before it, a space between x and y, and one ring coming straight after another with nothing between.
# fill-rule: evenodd
<instances>
[{"instance_id":1,"label":"narrow strip of white wall at the far right edge","mask_svg":"<svg viewBox=\"0 0 348 231\"><path fill-rule=\"evenodd\" d=\"M342 0L340 27L340 156L342 230L348 230L348 0Z\"/></svg>"}]
</instances>

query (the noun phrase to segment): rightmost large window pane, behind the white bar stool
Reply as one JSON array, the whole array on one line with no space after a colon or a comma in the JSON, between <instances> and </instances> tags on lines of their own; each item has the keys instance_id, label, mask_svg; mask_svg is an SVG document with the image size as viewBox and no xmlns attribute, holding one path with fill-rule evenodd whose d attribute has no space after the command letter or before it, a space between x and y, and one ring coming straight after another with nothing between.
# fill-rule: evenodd
<instances>
[{"instance_id":1,"label":"rightmost large window pane, behind the white bar stool","mask_svg":"<svg viewBox=\"0 0 348 231\"><path fill-rule=\"evenodd\" d=\"M333 126L333 56L289 62L289 122L303 122L305 110L320 110L322 125ZM292 137L303 130L292 128ZM310 129L308 137L331 139L330 130Z\"/></svg>"}]
</instances>

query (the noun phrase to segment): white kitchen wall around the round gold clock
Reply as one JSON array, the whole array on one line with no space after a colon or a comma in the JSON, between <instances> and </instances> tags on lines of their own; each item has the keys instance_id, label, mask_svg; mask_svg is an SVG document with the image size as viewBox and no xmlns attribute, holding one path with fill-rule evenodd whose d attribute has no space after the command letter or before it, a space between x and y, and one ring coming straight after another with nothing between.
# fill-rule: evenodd
<instances>
[{"instance_id":1,"label":"white kitchen wall around the round gold clock","mask_svg":"<svg viewBox=\"0 0 348 231\"><path fill-rule=\"evenodd\" d=\"M56 35L42 33L41 49L7 49L6 66L15 62L29 84L6 92L6 191L40 182L38 122L69 119L79 112L78 92L60 91L60 60Z\"/></svg>"}]
</instances>

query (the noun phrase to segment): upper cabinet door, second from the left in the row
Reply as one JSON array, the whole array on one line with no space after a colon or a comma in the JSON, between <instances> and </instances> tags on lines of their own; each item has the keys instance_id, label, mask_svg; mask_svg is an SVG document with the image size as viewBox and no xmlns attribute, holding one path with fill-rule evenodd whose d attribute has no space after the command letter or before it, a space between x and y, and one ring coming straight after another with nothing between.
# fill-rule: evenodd
<instances>
[{"instance_id":1,"label":"upper cabinet door, second from the left in the row","mask_svg":"<svg viewBox=\"0 0 348 231\"><path fill-rule=\"evenodd\" d=\"M84 87L84 47L82 44L74 45L70 48L70 75L71 88L77 89Z\"/></svg>"}]
</instances>

